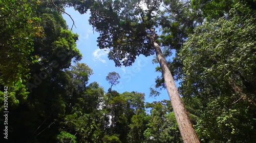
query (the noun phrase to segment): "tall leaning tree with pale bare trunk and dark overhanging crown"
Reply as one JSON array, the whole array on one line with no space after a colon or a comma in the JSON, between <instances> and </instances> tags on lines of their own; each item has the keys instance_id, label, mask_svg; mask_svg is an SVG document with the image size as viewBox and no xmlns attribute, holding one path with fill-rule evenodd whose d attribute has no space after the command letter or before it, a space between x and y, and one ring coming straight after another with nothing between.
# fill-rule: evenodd
<instances>
[{"instance_id":1,"label":"tall leaning tree with pale bare trunk and dark overhanging crown","mask_svg":"<svg viewBox=\"0 0 256 143\"><path fill-rule=\"evenodd\" d=\"M131 66L140 54L149 56L156 53L183 140L199 142L155 31L158 26L156 14L160 12L162 1L90 2L80 5L82 1L75 1L73 6L80 13L90 9L89 22L100 34L97 40L99 48L110 48L109 59L113 60L116 66Z\"/></svg>"}]
</instances>

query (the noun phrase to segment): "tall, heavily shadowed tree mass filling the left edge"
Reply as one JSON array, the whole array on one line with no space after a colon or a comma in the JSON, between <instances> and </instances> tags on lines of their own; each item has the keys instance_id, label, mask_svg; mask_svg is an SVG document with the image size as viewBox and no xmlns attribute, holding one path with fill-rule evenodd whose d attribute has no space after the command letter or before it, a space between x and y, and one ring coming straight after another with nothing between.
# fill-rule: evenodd
<instances>
[{"instance_id":1,"label":"tall, heavily shadowed tree mass filling the left edge","mask_svg":"<svg viewBox=\"0 0 256 143\"><path fill-rule=\"evenodd\" d=\"M63 24L65 20L60 12L43 8L39 1L3 2L0 4L0 15L3 16L0 31L1 35L5 35L3 41L10 45L4 44L5 47L0 49L1 58L4 59L0 68L10 67L10 75L1 70L1 76L7 74L0 82L1 87L9 83L14 85L10 87L8 100L9 110L13 112L9 115L9 141L38 142L45 138L56 142L58 123L65 117L68 105L65 99L70 96L65 87L68 82L65 69L70 67L72 60L76 62L81 59L75 44L78 35L69 31L65 22ZM42 34L43 38L40 37ZM12 57L9 64L4 62L8 60L8 54ZM17 80L20 86L14 84ZM1 106L4 105L2 95L1 92ZM22 133L21 130L27 132Z\"/></svg>"}]
</instances>

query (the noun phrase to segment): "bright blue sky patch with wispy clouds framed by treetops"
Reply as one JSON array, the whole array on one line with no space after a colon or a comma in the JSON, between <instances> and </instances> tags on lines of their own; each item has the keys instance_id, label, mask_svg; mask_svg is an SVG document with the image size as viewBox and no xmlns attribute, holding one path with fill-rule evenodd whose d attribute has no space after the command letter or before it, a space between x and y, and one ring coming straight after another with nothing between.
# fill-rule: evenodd
<instances>
[{"instance_id":1,"label":"bright blue sky patch with wispy clouds framed by treetops","mask_svg":"<svg viewBox=\"0 0 256 143\"><path fill-rule=\"evenodd\" d=\"M161 73L155 71L157 64L153 64L154 56L145 57L138 56L135 63L130 67L115 67L115 63L108 59L108 51L99 49L97 47L97 37L99 34L94 31L89 24L89 12L81 15L73 8L66 8L65 11L69 13L75 21L76 28L73 26L73 32L79 35L77 41L77 48L82 53L82 60L80 63L86 63L92 70L93 75L89 78L89 83L98 82L104 91L108 91L110 84L105 80L109 72L117 72L121 76L120 83L112 88L119 93L140 92L145 93L145 101L160 101L163 99L169 100L166 90L162 90L158 97L149 97L150 87L154 88L155 78ZM63 14L64 19L71 28L73 21L67 14Z\"/></svg>"}]
</instances>

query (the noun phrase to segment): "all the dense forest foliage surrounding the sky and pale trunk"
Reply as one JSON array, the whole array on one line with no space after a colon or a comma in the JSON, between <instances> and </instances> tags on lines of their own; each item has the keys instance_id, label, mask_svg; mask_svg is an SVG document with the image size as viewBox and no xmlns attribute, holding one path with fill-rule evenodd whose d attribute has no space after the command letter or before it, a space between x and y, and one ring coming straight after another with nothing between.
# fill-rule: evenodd
<instances>
[{"instance_id":1,"label":"all the dense forest foliage surrounding the sky and pale trunk","mask_svg":"<svg viewBox=\"0 0 256 143\"><path fill-rule=\"evenodd\" d=\"M157 28L201 142L255 142L255 1L145 1L146 10L141 1L53 2L58 8L0 2L0 112L8 86L9 142L183 142L170 101L112 91L116 72L106 76L107 92L89 82L93 70L79 63L78 35L59 10L65 6L91 10L98 46L114 47L109 56L118 66L153 54L148 27ZM155 6L161 9L152 13ZM162 77L156 88L166 88Z\"/></svg>"}]
</instances>

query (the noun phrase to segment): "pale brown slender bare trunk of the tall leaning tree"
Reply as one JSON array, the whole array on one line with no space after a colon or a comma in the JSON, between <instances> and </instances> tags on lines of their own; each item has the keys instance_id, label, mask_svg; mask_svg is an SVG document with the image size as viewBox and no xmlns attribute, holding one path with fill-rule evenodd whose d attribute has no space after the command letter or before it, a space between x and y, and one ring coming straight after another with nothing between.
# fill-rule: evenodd
<instances>
[{"instance_id":1,"label":"pale brown slender bare trunk of the tall leaning tree","mask_svg":"<svg viewBox=\"0 0 256 143\"><path fill-rule=\"evenodd\" d=\"M193 128L193 125L188 117L188 113L185 109L185 106L180 98L178 89L176 87L174 78L172 76L172 73L170 73L168 65L163 56L162 50L156 42L155 30L151 29L151 32L152 32L152 35L150 36L151 42L152 42L152 44L154 44L154 48L155 48L156 55L157 55L157 60L160 64L160 67L162 70L166 89L167 89L170 101L172 102L174 115L177 120L183 142L198 143L200 141L199 141L197 134L195 132L195 129Z\"/></svg>"}]
</instances>

